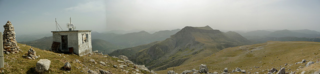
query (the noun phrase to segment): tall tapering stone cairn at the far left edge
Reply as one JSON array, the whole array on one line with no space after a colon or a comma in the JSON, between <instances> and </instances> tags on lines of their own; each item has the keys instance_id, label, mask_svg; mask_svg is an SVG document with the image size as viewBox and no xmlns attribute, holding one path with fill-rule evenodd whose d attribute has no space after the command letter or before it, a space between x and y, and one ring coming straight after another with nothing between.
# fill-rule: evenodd
<instances>
[{"instance_id":1,"label":"tall tapering stone cairn at the far left edge","mask_svg":"<svg viewBox=\"0 0 320 74\"><path fill-rule=\"evenodd\" d=\"M4 31L3 31L3 51L7 54L9 53L17 53L20 49L19 46L17 46L16 40L15 40L15 32L14 27L11 24L10 21L7 21L5 25L3 25Z\"/></svg>"}]
</instances>

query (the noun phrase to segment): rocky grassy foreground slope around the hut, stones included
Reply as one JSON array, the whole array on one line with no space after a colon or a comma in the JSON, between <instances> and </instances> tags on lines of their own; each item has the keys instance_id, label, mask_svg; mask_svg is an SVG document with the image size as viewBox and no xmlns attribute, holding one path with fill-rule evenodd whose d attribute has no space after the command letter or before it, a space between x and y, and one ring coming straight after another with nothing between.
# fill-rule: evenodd
<instances>
[{"instance_id":1,"label":"rocky grassy foreground slope around the hut, stones included","mask_svg":"<svg viewBox=\"0 0 320 74\"><path fill-rule=\"evenodd\" d=\"M1 68L1 73L149 73L144 65L134 64L125 56L115 57L96 52L78 56L33 47L38 57L30 59L26 56L29 56L28 50L31 46L25 44L18 46L22 51L4 54L5 65ZM38 65L49 68L37 71Z\"/></svg>"}]
</instances>

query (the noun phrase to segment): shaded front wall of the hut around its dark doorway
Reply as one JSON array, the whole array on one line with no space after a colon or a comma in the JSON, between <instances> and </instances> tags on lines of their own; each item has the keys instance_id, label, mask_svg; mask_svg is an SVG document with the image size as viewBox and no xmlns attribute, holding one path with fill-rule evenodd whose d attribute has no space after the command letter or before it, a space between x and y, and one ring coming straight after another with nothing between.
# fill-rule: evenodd
<instances>
[{"instance_id":1,"label":"shaded front wall of the hut around its dark doorway","mask_svg":"<svg viewBox=\"0 0 320 74\"><path fill-rule=\"evenodd\" d=\"M52 32L53 41L61 42L61 35L67 35L68 47L73 47L73 52L78 53L78 33L77 31ZM59 49L63 52L69 52L68 49L62 49L61 43Z\"/></svg>"}]
</instances>

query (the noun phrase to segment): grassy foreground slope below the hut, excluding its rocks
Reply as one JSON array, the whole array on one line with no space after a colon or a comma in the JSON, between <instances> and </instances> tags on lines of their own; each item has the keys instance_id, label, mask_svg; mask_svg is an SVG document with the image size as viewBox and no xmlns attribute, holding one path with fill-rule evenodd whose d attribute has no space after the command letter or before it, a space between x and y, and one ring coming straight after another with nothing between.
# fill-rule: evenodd
<instances>
[{"instance_id":1,"label":"grassy foreground slope below the hut, excluding its rocks","mask_svg":"<svg viewBox=\"0 0 320 74\"><path fill-rule=\"evenodd\" d=\"M128 73L133 73L132 71L136 71L132 69L134 68L132 64L128 64L129 66L124 68L112 67L113 65L119 66L118 64L127 64L117 61L122 59L113 58L111 56L101 54L88 54L84 56L78 56L74 54L54 53L52 51L41 50L33 47L33 49L36 51L36 55L40 55L39 58L26 59L23 58L23 56L26 55L25 53L31 46L25 44L18 44L18 46L20 46L20 49L22 49L21 52L15 54L4 54L4 62L6 64L2 69L4 71L3 73L36 73L34 67L39 59L49 59L51 61L50 68L45 73L86 73L88 69L94 70L95 72L98 72L99 69L110 70L112 73L126 73L125 71L122 71L122 69L127 70ZM81 63L75 62L76 59L81 61ZM90 62L90 59L94 59L97 63ZM99 64L99 61L106 62L107 65L103 66ZM61 67L65 62L70 62L72 70L61 70ZM139 69L139 73L149 72Z\"/></svg>"}]
</instances>

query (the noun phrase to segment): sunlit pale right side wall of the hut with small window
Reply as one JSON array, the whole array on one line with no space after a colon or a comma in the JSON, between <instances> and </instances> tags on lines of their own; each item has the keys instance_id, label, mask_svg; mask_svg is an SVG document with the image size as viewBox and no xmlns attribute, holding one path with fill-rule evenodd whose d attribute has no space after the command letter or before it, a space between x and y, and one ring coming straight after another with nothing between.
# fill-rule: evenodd
<instances>
[{"instance_id":1,"label":"sunlit pale right side wall of the hut with small window","mask_svg":"<svg viewBox=\"0 0 320 74\"><path fill-rule=\"evenodd\" d=\"M78 31L78 55L86 55L88 53L91 53L92 51L92 45L91 45L91 32L90 31ZM87 41L83 42L83 37L82 34L88 34Z\"/></svg>"}]
</instances>

